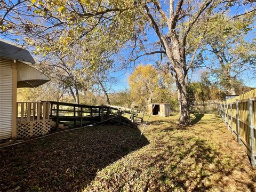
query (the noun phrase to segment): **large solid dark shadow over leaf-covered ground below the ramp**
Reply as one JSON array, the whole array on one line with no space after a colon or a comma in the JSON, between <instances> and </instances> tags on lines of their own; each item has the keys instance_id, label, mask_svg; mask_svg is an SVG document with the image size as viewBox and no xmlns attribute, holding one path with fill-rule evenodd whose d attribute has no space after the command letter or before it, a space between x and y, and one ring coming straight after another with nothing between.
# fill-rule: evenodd
<instances>
[{"instance_id":1,"label":"large solid dark shadow over leaf-covered ground below the ramp","mask_svg":"<svg viewBox=\"0 0 256 192\"><path fill-rule=\"evenodd\" d=\"M81 190L103 167L149 142L140 130L99 125L1 150L1 191Z\"/></svg>"}]
</instances>

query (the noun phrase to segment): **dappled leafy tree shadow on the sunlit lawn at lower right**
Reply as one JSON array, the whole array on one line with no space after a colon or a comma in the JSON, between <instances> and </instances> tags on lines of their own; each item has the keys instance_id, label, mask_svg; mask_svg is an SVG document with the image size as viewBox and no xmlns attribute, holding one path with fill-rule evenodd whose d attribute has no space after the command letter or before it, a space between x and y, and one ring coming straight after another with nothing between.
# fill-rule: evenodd
<instances>
[{"instance_id":1,"label":"dappled leafy tree shadow on the sunlit lawn at lower right","mask_svg":"<svg viewBox=\"0 0 256 192\"><path fill-rule=\"evenodd\" d=\"M163 191L206 191L225 190L227 185L233 185L239 191L247 189L254 191L255 172L251 172L249 176L251 180L243 181L239 178L239 175L244 175L244 172L237 172L237 167L243 166L242 156L241 161L235 161L233 157L213 149L206 140L196 137L172 139L175 140L176 145L164 147L163 152L156 156L154 161L151 160L149 165L160 167L157 171L158 175L155 175L159 182L153 183L156 188L162 188ZM234 173L239 179L233 178ZM229 178L229 181L223 180L225 177Z\"/></svg>"}]
</instances>

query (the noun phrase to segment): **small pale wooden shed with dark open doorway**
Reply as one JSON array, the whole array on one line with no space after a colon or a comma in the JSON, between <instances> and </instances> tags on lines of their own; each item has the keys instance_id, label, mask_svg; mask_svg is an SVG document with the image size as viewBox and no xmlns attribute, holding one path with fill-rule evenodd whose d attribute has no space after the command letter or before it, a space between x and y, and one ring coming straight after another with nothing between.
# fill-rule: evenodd
<instances>
[{"instance_id":1,"label":"small pale wooden shed with dark open doorway","mask_svg":"<svg viewBox=\"0 0 256 192\"><path fill-rule=\"evenodd\" d=\"M148 105L148 113L150 114L151 112L152 115L159 115L162 117L170 116L171 105L169 103L150 103Z\"/></svg>"}]
</instances>

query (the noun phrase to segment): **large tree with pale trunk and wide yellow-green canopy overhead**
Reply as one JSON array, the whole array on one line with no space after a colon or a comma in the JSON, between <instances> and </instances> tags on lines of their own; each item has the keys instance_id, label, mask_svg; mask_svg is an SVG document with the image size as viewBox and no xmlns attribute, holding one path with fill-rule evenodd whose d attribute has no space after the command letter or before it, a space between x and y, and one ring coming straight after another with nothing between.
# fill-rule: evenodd
<instances>
[{"instance_id":1,"label":"large tree with pale trunk and wide yellow-green canopy overhead","mask_svg":"<svg viewBox=\"0 0 256 192\"><path fill-rule=\"evenodd\" d=\"M206 67L230 93L233 90L228 87L234 86L236 74L254 65L255 42L244 38L255 22L252 1L6 0L1 13L2 36L22 38L21 43L34 47L39 60L61 55L65 62L74 61L74 71L81 68L63 81L71 85L66 79L72 79L76 90L80 79L85 82L95 74L106 77L98 73L102 63L111 62L115 68L118 62L118 69L127 69L142 57L156 54L151 57L156 67L168 66L175 78L180 125L190 123L187 77L205 64L202 60L217 58L214 62L219 61L221 67ZM204 58L204 51L213 57ZM101 77L96 78L99 85L106 81ZM104 86L101 90L107 93Z\"/></svg>"}]
</instances>

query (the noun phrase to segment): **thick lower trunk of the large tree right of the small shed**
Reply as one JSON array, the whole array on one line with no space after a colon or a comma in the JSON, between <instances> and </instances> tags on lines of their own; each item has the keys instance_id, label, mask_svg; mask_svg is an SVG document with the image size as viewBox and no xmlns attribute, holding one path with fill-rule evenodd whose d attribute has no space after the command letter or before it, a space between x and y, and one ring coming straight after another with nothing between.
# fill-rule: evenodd
<instances>
[{"instance_id":1,"label":"thick lower trunk of the large tree right of the small shed","mask_svg":"<svg viewBox=\"0 0 256 192\"><path fill-rule=\"evenodd\" d=\"M174 76L178 88L178 100L179 100L179 125L187 126L190 124L189 106L187 98L187 89L185 82L185 75L182 68L174 68Z\"/></svg>"}]
</instances>

